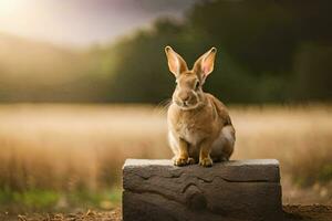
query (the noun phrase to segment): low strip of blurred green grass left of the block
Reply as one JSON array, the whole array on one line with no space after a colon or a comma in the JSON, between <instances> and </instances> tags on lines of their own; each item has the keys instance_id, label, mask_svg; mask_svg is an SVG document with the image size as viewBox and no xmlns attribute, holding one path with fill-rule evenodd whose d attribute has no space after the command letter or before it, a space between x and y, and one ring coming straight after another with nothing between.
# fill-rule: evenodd
<instances>
[{"instance_id":1,"label":"low strip of blurred green grass left of the block","mask_svg":"<svg viewBox=\"0 0 332 221\"><path fill-rule=\"evenodd\" d=\"M0 190L1 210L19 211L62 211L73 208L111 209L121 202L122 191L120 188L111 190L74 190L59 191L51 189L33 189L15 191L10 189Z\"/></svg>"}]
</instances>

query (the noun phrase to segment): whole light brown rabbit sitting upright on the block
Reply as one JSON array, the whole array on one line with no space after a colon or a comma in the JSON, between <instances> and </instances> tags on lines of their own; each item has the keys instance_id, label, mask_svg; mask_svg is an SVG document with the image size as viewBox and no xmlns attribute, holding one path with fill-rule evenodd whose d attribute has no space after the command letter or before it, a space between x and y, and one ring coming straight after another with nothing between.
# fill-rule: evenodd
<instances>
[{"instance_id":1,"label":"whole light brown rabbit sitting upright on the block","mask_svg":"<svg viewBox=\"0 0 332 221\"><path fill-rule=\"evenodd\" d=\"M199 162L210 167L212 161L228 160L234 151L235 128L225 105L201 88L214 71L217 50L212 48L201 55L193 70L170 46L165 52L177 83L167 113L174 165Z\"/></svg>"}]
</instances>

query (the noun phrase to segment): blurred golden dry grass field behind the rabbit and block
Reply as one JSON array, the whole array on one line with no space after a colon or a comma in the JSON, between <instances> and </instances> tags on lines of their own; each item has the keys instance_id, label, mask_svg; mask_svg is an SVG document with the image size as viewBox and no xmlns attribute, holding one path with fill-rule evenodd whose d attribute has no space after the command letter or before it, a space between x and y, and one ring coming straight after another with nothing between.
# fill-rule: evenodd
<instances>
[{"instance_id":1,"label":"blurred golden dry grass field behind the rabbit and block","mask_svg":"<svg viewBox=\"0 0 332 221\"><path fill-rule=\"evenodd\" d=\"M277 158L284 203L332 203L332 106L231 106L234 159ZM0 208L111 209L126 158L170 158L165 109L0 106Z\"/></svg>"}]
</instances>

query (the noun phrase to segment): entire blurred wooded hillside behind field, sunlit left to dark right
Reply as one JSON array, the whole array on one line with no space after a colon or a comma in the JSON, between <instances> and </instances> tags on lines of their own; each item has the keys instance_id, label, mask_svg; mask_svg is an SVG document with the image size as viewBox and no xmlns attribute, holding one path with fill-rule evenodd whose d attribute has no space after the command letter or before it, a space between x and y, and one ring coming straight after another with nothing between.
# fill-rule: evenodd
<instances>
[{"instance_id":1,"label":"entire blurred wooded hillside behind field, sunlit left to dark right","mask_svg":"<svg viewBox=\"0 0 332 221\"><path fill-rule=\"evenodd\" d=\"M159 103L174 76L165 45L191 66L211 46L205 88L227 103L331 102L332 3L198 1L108 45L73 50L0 34L0 101Z\"/></svg>"}]
</instances>

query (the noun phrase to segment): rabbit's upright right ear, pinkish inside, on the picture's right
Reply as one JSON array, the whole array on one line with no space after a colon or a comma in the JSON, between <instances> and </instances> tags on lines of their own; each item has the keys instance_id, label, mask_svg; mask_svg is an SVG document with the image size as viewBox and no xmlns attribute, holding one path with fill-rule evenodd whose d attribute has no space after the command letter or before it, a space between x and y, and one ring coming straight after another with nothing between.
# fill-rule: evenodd
<instances>
[{"instance_id":1,"label":"rabbit's upright right ear, pinkish inside, on the picture's right","mask_svg":"<svg viewBox=\"0 0 332 221\"><path fill-rule=\"evenodd\" d=\"M203 54L194 64L194 71L200 75L203 82L214 71L216 53L217 49L212 48Z\"/></svg>"}]
</instances>

